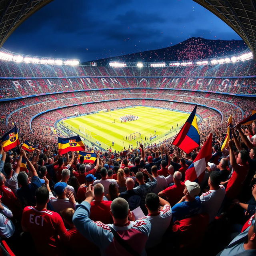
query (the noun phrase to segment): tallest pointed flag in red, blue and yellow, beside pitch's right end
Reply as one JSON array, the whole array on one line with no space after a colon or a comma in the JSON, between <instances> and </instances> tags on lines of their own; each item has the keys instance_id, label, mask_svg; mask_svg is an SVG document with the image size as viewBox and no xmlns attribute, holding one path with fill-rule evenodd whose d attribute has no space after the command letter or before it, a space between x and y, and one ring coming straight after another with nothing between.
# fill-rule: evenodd
<instances>
[{"instance_id":1,"label":"tallest pointed flag in red, blue and yellow, beside pitch's right end","mask_svg":"<svg viewBox=\"0 0 256 256\"><path fill-rule=\"evenodd\" d=\"M172 145L176 145L187 154L200 145L200 132L196 122L196 108L197 105L194 107L188 120L186 120L184 126L182 126L180 132L172 142Z\"/></svg>"}]
</instances>

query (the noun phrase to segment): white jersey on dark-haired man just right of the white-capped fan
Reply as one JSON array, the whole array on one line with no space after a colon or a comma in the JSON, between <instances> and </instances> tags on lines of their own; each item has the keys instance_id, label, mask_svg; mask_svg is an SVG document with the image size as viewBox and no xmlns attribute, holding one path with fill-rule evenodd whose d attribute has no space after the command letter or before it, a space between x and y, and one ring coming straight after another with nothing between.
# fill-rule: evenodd
<instances>
[{"instance_id":1,"label":"white jersey on dark-haired man just right of the white-capped fan","mask_svg":"<svg viewBox=\"0 0 256 256\"><path fill-rule=\"evenodd\" d=\"M210 222L214 220L226 194L225 187L223 185L220 185L219 187L218 190L211 189L200 196L200 213L207 213Z\"/></svg>"}]
</instances>

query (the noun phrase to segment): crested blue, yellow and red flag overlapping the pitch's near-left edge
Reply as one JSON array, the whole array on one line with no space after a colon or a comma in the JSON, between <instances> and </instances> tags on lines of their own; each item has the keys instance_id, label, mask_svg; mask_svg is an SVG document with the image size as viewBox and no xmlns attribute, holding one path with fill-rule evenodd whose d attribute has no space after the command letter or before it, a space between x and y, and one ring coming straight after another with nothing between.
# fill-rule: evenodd
<instances>
[{"instance_id":1,"label":"crested blue, yellow and red flag overlapping the pitch's near-left edge","mask_svg":"<svg viewBox=\"0 0 256 256\"><path fill-rule=\"evenodd\" d=\"M65 154L69 151L85 150L84 143L82 142L79 135L70 138L58 137L59 154Z\"/></svg>"}]
</instances>

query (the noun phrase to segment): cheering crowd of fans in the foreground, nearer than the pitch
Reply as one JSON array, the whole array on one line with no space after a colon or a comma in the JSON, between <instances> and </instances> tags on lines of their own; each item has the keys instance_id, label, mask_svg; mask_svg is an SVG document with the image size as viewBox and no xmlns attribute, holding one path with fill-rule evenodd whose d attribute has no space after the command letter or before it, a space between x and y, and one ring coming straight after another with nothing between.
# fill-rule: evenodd
<instances>
[{"instance_id":1,"label":"cheering crowd of fans in the foreground, nearer than the pitch","mask_svg":"<svg viewBox=\"0 0 256 256\"><path fill-rule=\"evenodd\" d=\"M38 127L47 120L36 119ZM59 155L44 128L30 136L31 153L4 152L0 144L0 236L17 256L187 255L198 248L199 255L255 255L256 121L231 130L223 151L226 125L210 118L190 154L167 141L121 152L86 146L96 153L90 163L76 152ZM210 132L204 178L184 182Z\"/></svg>"}]
</instances>

